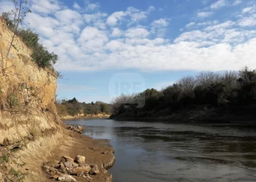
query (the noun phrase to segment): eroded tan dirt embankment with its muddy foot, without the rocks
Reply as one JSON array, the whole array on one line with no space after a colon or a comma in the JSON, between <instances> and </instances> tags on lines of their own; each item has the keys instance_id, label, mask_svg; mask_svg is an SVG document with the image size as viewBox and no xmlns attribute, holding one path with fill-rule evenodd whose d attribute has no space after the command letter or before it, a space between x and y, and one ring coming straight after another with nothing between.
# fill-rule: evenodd
<instances>
[{"instance_id":1,"label":"eroded tan dirt embankment with its muddy foot, without the rocks","mask_svg":"<svg viewBox=\"0 0 256 182\"><path fill-rule=\"evenodd\" d=\"M6 60L12 35L0 17L0 181L52 181L41 167L62 155L83 155L97 164L101 173L90 181L111 180L105 168L114 161L112 147L63 128L55 71L39 68L19 38Z\"/></svg>"}]
</instances>

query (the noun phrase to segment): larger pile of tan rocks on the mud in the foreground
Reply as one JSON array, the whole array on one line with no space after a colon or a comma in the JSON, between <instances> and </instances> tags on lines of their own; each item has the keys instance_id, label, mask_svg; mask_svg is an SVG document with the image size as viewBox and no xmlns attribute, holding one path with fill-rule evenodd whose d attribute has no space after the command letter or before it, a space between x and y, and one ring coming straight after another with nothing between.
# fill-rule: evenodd
<instances>
[{"instance_id":1,"label":"larger pile of tan rocks on the mud in the foreground","mask_svg":"<svg viewBox=\"0 0 256 182\"><path fill-rule=\"evenodd\" d=\"M63 156L60 161L50 161L43 164L42 168L50 178L66 182L76 181L73 176L91 178L89 175L100 173L97 164L85 164L85 157L79 155L75 159Z\"/></svg>"}]
</instances>

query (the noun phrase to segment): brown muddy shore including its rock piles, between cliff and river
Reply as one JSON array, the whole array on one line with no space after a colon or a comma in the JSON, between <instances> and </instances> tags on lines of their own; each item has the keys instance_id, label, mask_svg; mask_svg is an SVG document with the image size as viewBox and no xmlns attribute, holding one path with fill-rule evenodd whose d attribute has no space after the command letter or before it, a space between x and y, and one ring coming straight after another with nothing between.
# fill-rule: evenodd
<instances>
[{"instance_id":1,"label":"brown muddy shore including its rock piles, between cliff and river","mask_svg":"<svg viewBox=\"0 0 256 182\"><path fill-rule=\"evenodd\" d=\"M42 169L52 181L112 181L107 169L114 164L114 148L107 140L93 140L81 135L84 127L63 125L65 142L55 151Z\"/></svg>"}]
</instances>

